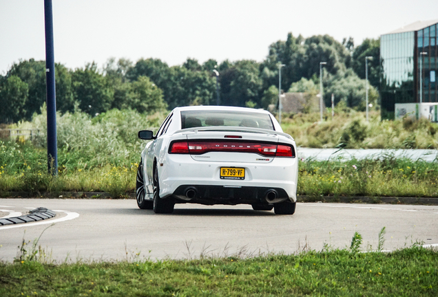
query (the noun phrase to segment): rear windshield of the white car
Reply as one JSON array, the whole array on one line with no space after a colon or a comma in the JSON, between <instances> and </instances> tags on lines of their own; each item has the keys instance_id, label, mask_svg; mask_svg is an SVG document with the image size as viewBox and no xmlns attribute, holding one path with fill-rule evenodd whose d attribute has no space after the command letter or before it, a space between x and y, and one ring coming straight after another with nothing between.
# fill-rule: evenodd
<instances>
[{"instance_id":1,"label":"rear windshield of the white car","mask_svg":"<svg viewBox=\"0 0 438 297\"><path fill-rule=\"evenodd\" d=\"M273 130L267 113L244 111L181 111L181 129L202 126L246 126Z\"/></svg>"}]
</instances>

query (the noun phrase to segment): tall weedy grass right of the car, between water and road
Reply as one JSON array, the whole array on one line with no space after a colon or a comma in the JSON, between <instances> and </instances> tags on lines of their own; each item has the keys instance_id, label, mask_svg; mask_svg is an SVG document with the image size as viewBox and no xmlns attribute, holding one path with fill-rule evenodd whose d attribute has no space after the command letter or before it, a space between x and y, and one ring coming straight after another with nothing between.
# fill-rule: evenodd
<instances>
[{"instance_id":1,"label":"tall weedy grass right of the car, between water and road","mask_svg":"<svg viewBox=\"0 0 438 297\"><path fill-rule=\"evenodd\" d=\"M438 163L382 157L306 161L299 167L298 193L319 197L438 197Z\"/></svg>"}]
</instances>

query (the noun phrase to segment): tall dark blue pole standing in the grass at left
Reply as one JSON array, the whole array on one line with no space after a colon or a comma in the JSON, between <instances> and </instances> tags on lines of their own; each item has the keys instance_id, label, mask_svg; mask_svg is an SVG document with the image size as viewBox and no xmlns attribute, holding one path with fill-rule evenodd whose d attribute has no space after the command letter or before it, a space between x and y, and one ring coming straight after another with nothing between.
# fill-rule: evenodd
<instances>
[{"instance_id":1,"label":"tall dark blue pole standing in the grass at left","mask_svg":"<svg viewBox=\"0 0 438 297\"><path fill-rule=\"evenodd\" d=\"M52 0L44 0L45 23L45 78L47 105L47 155L48 170L52 175L58 173L58 151L56 148L56 92L53 45Z\"/></svg>"}]
</instances>

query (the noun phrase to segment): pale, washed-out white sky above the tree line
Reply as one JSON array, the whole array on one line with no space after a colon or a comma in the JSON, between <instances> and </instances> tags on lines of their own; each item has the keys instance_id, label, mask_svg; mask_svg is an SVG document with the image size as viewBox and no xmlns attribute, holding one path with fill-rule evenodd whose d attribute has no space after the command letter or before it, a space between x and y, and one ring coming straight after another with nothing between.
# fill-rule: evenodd
<instances>
[{"instance_id":1,"label":"pale, washed-out white sky above the tree line","mask_svg":"<svg viewBox=\"0 0 438 297\"><path fill-rule=\"evenodd\" d=\"M55 62L70 69L108 58L263 61L287 34L351 36L355 45L415 21L438 19L437 0L52 0ZM45 60L44 0L0 0L0 74Z\"/></svg>"}]
</instances>

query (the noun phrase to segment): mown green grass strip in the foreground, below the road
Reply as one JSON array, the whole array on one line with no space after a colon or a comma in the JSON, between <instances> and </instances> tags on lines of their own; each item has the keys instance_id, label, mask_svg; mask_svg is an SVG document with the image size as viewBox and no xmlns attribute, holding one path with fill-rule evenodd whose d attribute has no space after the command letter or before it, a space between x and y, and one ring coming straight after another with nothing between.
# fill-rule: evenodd
<instances>
[{"instance_id":1,"label":"mown green grass strip in the foreground, below the road","mask_svg":"<svg viewBox=\"0 0 438 297\"><path fill-rule=\"evenodd\" d=\"M354 250L197 260L0 263L0 296L437 296L438 252Z\"/></svg>"}]
</instances>

